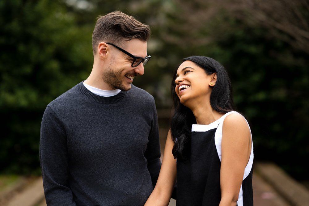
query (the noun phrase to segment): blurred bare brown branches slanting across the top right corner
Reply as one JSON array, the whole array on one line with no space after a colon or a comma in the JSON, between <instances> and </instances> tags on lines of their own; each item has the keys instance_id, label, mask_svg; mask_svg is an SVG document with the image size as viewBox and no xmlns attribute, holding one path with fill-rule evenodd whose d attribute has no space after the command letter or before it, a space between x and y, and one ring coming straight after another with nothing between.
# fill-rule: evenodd
<instances>
[{"instance_id":1,"label":"blurred bare brown branches slanting across the top right corner","mask_svg":"<svg viewBox=\"0 0 309 206\"><path fill-rule=\"evenodd\" d=\"M297 50L309 54L309 3L307 0L214 1L237 19L261 25Z\"/></svg>"}]
</instances>

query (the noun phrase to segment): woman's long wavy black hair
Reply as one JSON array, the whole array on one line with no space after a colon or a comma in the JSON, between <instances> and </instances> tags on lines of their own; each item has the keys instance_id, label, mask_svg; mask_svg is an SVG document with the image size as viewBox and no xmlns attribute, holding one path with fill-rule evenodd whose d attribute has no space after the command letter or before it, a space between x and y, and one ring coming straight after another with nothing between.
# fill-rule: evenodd
<instances>
[{"instance_id":1,"label":"woman's long wavy black hair","mask_svg":"<svg viewBox=\"0 0 309 206\"><path fill-rule=\"evenodd\" d=\"M232 86L230 78L225 68L216 60L210 57L191 56L184 58L183 61L193 61L197 66L205 70L210 75L217 73L217 81L210 94L210 105L214 110L222 113L235 111L236 107L233 102ZM173 98L173 106L175 113L171 119L171 135L175 142L172 153L174 158L186 161L190 157L191 152L191 128L192 124L196 124L193 112L180 103L175 92L175 79L177 69L173 76L171 84L171 93Z\"/></svg>"}]
</instances>

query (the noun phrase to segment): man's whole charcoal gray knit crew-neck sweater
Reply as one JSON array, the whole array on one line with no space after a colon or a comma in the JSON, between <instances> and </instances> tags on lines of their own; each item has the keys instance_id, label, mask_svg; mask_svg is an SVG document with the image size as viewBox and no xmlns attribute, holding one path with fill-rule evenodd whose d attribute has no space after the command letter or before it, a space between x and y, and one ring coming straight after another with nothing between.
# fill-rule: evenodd
<instances>
[{"instance_id":1,"label":"man's whole charcoal gray knit crew-neck sweater","mask_svg":"<svg viewBox=\"0 0 309 206\"><path fill-rule=\"evenodd\" d=\"M161 166L154 98L132 85L112 97L83 82L47 105L40 164L47 205L143 205Z\"/></svg>"}]
</instances>

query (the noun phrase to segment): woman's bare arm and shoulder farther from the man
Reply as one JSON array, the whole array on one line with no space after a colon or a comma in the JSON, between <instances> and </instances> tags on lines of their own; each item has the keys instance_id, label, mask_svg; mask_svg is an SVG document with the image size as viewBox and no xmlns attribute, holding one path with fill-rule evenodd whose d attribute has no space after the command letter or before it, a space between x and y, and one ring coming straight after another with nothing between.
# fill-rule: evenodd
<instances>
[{"instance_id":1,"label":"woman's bare arm and shoulder farther from the man","mask_svg":"<svg viewBox=\"0 0 309 206\"><path fill-rule=\"evenodd\" d=\"M251 152L251 133L243 116L226 116L222 127L221 151L219 206L236 205Z\"/></svg>"}]
</instances>

